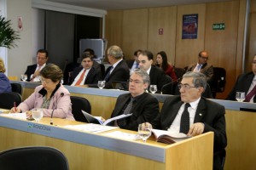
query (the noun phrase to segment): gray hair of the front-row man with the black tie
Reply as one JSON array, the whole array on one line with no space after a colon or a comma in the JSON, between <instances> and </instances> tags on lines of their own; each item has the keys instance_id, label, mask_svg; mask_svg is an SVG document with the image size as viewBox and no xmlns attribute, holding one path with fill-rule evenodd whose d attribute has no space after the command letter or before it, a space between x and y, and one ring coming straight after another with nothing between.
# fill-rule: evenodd
<instances>
[{"instance_id":1,"label":"gray hair of the front-row man with the black tie","mask_svg":"<svg viewBox=\"0 0 256 170\"><path fill-rule=\"evenodd\" d=\"M204 89L207 88L207 77L201 73L201 72L193 72L193 71L188 71L183 75L183 78L193 78L193 84L195 88L202 87Z\"/></svg>"}]
</instances>

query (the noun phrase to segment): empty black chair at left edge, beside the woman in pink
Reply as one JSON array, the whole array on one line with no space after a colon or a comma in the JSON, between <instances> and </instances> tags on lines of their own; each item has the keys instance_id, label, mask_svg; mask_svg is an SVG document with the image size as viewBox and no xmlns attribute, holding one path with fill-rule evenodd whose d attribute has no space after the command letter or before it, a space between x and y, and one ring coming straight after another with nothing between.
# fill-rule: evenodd
<instances>
[{"instance_id":1,"label":"empty black chair at left edge, beside the woman in pink","mask_svg":"<svg viewBox=\"0 0 256 170\"><path fill-rule=\"evenodd\" d=\"M15 92L4 92L0 94L0 108L11 109L15 105L20 105L21 96Z\"/></svg>"}]
</instances>

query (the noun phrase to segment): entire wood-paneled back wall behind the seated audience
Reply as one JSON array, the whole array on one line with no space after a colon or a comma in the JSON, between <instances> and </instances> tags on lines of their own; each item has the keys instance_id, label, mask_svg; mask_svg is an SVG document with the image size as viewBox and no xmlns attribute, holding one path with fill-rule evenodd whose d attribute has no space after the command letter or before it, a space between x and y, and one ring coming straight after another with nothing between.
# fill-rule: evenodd
<instances>
[{"instance_id":1,"label":"entire wood-paneled back wall behind the seated audience","mask_svg":"<svg viewBox=\"0 0 256 170\"><path fill-rule=\"evenodd\" d=\"M183 14L198 14L197 39L182 39ZM227 71L225 91L217 96L224 99L242 71L245 14L246 0L108 11L106 38L108 46L123 48L126 59L131 59L138 48L154 55L164 50L176 67L196 62L198 53L207 50L209 62ZM212 24L216 23L224 23L225 29L213 31ZM158 34L160 28L164 29L163 35Z\"/></svg>"}]
</instances>

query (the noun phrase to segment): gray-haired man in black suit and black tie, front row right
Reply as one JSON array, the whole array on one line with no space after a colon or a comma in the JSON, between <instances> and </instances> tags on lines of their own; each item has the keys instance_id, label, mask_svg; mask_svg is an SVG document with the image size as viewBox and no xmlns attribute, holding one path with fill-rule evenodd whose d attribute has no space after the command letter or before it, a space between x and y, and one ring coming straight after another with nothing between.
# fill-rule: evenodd
<instances>
[{"instance_id":1,"label":"gray-haired man in black suit and black tie, front row right","mask_svg":"<svg viewBox=\"0 0 256 170\"><path fill-rule=\"evenodd\" d=\"M201 97L206 87L204 74L186 72L179 84L180 96L166 98L160 115L151 124L154 128L188 136L213 132L213 169L223 169L220 153L227 145L225 110L223 105Z\"/></svg>"}]
</instances>

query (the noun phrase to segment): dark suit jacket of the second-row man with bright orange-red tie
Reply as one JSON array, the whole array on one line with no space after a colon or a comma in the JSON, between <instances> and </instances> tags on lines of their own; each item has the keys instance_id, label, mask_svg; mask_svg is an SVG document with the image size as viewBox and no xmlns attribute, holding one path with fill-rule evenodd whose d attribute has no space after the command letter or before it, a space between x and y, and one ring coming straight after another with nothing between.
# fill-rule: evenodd
<instances>
[{"instance_id":1,"label":"dark suit jacket of the second-row man with bright orange-red tie","mask_svg":"<svg viewBox=\"0 0 256 170\"><path fill-rule=\"evenodd\" d=\"M72 84L74 79L79 75L79 72L83 70L82 66L76 67L73 70L71 81L69 84ZM98 81L101 80L101 72L96 70L95 67L91 67L90 71L88 72L87 77L84 80L84 84L88 84L90 87L90 84L96 84Z\"/></svg>"}]
</instances>

